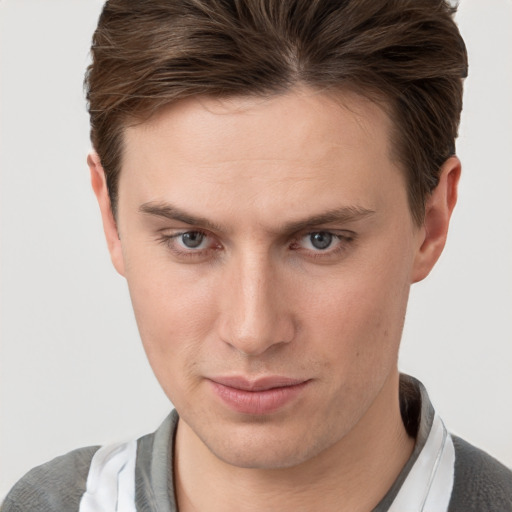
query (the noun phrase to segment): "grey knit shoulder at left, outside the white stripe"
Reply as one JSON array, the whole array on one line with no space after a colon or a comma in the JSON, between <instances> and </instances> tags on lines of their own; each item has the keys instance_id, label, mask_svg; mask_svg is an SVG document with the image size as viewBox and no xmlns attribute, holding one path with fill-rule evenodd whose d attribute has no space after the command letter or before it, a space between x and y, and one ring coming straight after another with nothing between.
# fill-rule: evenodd
<instances>
[{"instance_id":1,"label":"grey knit shoulder at left, outside the white stripe","mask_svg":"<svg viewBox=\"0 0 512 512\"><path fill-rule=\"evenodd\" d=\"M2 512L78 511L98 449L80 448L32 469L11 489Z\"/></svg>"}]
</instances>

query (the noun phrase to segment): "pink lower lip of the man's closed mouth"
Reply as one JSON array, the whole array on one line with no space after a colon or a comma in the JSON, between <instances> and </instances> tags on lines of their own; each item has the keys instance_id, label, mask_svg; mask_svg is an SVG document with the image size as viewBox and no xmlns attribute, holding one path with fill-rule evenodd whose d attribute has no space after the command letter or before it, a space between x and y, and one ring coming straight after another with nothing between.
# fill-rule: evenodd
<instances>
[{"instance_id":1,"label":"pink lower lip of the man's closed mouth","mask_svg":"<svg viewBox=\"0 0 512 512\"><path fill-rule=\"evenodd\" d=\"M261 391L246 391L210 381L217 396L231 409L244 414L269 414L297 398L309 381Z\"/></svg>"}]
</instances>

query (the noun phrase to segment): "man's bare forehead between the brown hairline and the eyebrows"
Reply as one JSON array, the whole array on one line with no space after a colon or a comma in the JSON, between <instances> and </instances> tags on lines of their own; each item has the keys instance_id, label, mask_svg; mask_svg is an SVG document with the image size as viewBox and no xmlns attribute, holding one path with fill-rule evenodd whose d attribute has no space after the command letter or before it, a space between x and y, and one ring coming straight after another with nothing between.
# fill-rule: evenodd
<instances>
[{"instance_id":1,"label":"man's bare forehead between the brown hairline and the eyebrows","mask_svg":"<svg viewBox=\"0 0 512 512\"><path fill-rule=\"evenodd\" d=\"M373 210L386 194L403 195L390 133L384 110L349 92L191 98L126 129L120 205L130 194L209 210L219 198L237 211L304 208L313 198Z\"/></svg>"}]
</instances>

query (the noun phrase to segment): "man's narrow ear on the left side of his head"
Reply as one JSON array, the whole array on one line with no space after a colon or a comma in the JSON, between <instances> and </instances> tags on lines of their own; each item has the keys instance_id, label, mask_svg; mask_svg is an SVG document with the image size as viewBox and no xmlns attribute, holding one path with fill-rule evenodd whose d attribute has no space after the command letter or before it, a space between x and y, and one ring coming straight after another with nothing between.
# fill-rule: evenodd
<instances>
[{"instance_id":1,"label":"man's narrow ear on the left side of his head","mask_svg":"<svg viewBox=\"0 0 512 512\"><path fill-rule=\"evenodd\" d=\"M93 151L87 157L87 165L91 172L91 185L98 200L101 211L101 219L103 221L103 231L107 239L108 250L112 263L116 270L124 276L124 259L121 247L121 239L117 229L116 220L112 213L110 196L108 194L107 181L105 179L105 171L100 162L100 157Z\"/></svg>"}]
</instances>

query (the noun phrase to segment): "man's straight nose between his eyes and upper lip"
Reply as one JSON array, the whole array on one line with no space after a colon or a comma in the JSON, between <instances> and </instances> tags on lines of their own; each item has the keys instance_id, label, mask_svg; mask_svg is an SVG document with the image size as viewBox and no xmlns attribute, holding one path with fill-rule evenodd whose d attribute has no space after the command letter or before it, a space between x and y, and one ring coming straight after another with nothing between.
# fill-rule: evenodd
<instances>
[{"instance_id":1,"label":"man's straight nose between his eyes and upper lip","mask_svg":"<svg viewBox=\"0 0 512 512\"><path fill-rule=\"evenodd\" d=\"M258 356L295 336L283 276L264 255L228 265L224 280L220 337L246 356Z\"/></svg>"}]
</instances>

